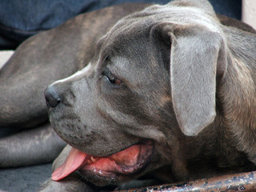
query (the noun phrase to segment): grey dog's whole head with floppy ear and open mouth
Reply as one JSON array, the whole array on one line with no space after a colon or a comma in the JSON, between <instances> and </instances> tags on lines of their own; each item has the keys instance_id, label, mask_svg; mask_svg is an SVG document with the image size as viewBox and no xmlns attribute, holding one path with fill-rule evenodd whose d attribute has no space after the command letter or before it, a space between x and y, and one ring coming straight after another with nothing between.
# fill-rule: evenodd
<instances>
[{"instance_id":1,"label":"grey dog's whole head with floppy ear and open mouth","mask_svg":"<svg viewBox=\"0 0 256 192\"><path fill-rule=\"evenodd\" d=\"M79 170L97 185L114 184L172 163L178 138L214 121L216 77L225 71L225 39L209 2L174 1L123 18L84 70L45 92L51 125L78 149L54 179Z\"/></svg>"}]
</instances>

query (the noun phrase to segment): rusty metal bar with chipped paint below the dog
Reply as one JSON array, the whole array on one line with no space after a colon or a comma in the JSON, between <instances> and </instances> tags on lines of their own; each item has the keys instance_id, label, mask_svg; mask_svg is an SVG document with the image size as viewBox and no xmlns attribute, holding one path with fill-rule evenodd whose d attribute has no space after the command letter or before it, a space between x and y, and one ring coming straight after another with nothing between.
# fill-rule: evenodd
<instances>
[{"instance_id":1,"label":"rusty metal bar with chipped paint below the dog","mask_svg":"<svg viewBox=\"0 0 256 192\"><path fill-rule=\"evenodd\" d=\"M161 186L148 186L140 189L120 190L119 192L214 192L214 191L256 191L256 171L202 178L191 182L180 182Z\"/></svg>"}]
</instances>

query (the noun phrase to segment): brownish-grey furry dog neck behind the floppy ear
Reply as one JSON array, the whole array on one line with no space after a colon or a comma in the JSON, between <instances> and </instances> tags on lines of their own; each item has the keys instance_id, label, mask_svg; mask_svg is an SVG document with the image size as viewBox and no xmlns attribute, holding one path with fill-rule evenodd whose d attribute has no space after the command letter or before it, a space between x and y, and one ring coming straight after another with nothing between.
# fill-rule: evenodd
<instances>
[{"instance_id":1,"label":"brownish-grey furry dog neck behind the floppy ear","mask_svg":"<svg viewBox=\"0 0 256 192\"><path fill-rule=\"evenodd\" d=\"M218 104L226 131L233 135L237 149L250 154L250 160L255 162L250 156L256 154L256 38L240 30L226 34L230 51L226 74L217 87Z\"/></svg>"}]
</instances>

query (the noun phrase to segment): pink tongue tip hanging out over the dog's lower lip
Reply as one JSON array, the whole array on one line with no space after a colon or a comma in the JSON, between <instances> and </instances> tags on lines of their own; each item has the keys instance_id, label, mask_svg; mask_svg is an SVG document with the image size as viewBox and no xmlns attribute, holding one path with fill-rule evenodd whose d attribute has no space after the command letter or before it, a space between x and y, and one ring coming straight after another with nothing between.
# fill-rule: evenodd
<instances>
[{"instance_id":1,"label":"pink tongue tip hanging out over the dog's lower lip","mask_svg":"<svg viewBox=\"0 0 256 192\"><path fill-rule=\"evenodd\" d=\"M85 162L86 156L87 154L84 154L72 147L70 154L66 158L66 161L62 164L62 166L54 170L54 173L51 174L51 178L54 181L59 181L75 170L78 170L78 168L82 166L83 162Z\"/></svg>"}]
</instances>

